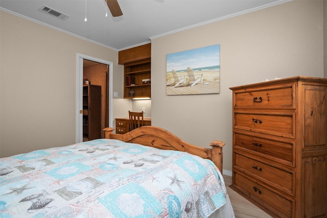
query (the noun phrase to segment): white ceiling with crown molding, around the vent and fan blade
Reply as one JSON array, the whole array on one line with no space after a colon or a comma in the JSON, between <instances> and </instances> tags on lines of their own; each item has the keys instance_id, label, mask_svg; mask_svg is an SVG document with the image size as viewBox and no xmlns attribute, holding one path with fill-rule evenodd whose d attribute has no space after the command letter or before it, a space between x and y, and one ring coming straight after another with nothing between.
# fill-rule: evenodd
<instances>
[{"instance_id":1,"label":"white ceiling with crown molding, around the vent and fan blade","mask_svg":"<svg viewBox=\"0 0 327 218\"><path fill-rule=\"evenodd\" d=\"M0 0L0 9L120 51L159 36L288 1L118 0L123 11L120 17L111 16L105 0ZM43 5L69 18L60 20L38 11Z\"/></svg>"}]
</instances>

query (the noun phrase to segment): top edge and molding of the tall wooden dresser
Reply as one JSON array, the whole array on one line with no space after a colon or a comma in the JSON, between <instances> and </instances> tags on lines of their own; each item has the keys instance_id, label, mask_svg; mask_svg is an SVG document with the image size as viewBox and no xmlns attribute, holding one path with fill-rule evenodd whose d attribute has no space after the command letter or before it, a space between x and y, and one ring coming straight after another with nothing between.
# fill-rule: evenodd
<instances>
[{"instance_id":1,"label":"top edge and molding of the tall wooden dresser","mask_svg":"<svg viewBox=\"0 0 327 218\"><path fill-rule=\"evenodd\" d=\"M296 81L327 84L327 79L325 79L325 78L296 76L296 77L289 77L289 78L285 78L285 79L271 80L271 81L267 81L267 82L235 86L235 87L230 87L229 89L235 90L235 89L244 89L244 88L249 88L249 87L253 88L253 87L260 87L260 86L265 86L265 85L275 85L275 84L282 84L282 83L296 82Z\"/></svg>"}]
</instances>

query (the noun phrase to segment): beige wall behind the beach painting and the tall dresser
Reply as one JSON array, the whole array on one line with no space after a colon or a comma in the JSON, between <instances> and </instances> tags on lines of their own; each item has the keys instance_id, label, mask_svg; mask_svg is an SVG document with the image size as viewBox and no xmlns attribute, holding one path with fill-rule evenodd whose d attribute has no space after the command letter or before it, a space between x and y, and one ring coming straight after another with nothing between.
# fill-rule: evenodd
<instances>
[{"instance_id":1,"label":"beige wall behind the beach painting and the tall dresser","mask_svg":"<svg viewBox=\"0 0 327 218\"><path fill-rule=\"evenodd\" d=\"M322 1L292 1L152 39L152 124L208 147L223 140L231 171L229 87L275 77L323 77ZM166 55L220 44L220 93L166 95Z\"/></svg>"}]
</instances>

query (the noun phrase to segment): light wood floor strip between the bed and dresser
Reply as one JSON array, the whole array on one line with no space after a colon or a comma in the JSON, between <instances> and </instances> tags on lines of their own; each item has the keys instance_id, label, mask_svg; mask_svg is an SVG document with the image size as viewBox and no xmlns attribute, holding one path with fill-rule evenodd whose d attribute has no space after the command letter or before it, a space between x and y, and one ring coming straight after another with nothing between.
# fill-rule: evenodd
<instances>
[{"instance_id":1,"label":"light wood floor strip between the bed and dresser","mask_svg":"<svg viewBox=\"0 0 327 218\"><path fill-rule=\"evenodd\" d=\"M232 190L229 185L231 185L231 177L223 175L225 180L225 185L227 188L227 193L233 207L235 217L236 218L270 218L271 216L261 210L259 207L255 206L242 196L240 196L237 192Z\"/></svg>"}]
</instances>

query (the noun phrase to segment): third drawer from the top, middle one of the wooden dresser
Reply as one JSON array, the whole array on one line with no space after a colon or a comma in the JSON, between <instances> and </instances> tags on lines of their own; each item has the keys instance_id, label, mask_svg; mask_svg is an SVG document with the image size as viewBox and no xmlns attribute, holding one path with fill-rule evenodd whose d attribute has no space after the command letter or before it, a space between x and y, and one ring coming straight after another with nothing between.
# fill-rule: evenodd
<instances>
[{"instance_id":1,"label":"third drawer from the top, middle one of the wooden dresser","mask_svg":"<svg viewBox=\"0 0 327 218\"><path fill-rule=\"evenodd\" d=\"M234 133L234 148L246 149L253 154L286 165L295 165L295 142L269 140Z\"/></svg>"}]
</instances>

